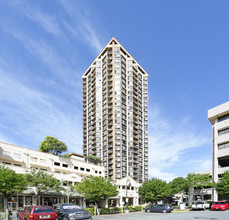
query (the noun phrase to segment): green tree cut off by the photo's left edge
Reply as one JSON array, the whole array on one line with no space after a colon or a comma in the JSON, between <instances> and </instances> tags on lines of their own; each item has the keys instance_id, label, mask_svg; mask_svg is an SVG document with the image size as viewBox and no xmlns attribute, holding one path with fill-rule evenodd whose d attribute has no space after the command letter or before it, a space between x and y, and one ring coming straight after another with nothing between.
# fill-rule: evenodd
<instances>
[{"instance_id":1,"label":"green tree cut off by the photo's left edge","mask_svg":"<svg viewBox=\"0 0 229 220\"><path fill-rule=\"evenodd\" d=\"M26 189L26 180L23 174L17 174L5 166L0 166L0 193L4 198L6 219L9 219L8 198L16 196L17 193L21 193Z\"/></svg>"}]
</instances>

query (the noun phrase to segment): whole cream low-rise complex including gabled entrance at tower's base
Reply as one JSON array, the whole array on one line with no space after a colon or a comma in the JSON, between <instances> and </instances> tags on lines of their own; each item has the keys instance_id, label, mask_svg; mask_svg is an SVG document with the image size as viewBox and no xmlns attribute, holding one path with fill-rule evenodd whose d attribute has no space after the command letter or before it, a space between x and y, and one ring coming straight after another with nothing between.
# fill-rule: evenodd
<instances>
[{"instance_id":1,"label":"whole cream low-rise complex including gabled entrance at tower's base","mask_svg":"<svg viewBox=\"0 0 229 220\"><path fill-rule=\"evenodd\" d=\"M27 173L31 168L42 170L52 174L66 188L66 192L60 193L41 192L39 198L36 188L29 187L24 192L8 199L8 205L11 210L17 210L31 204L52 205L68 201L83 207L89 207L90 203L86 203L83 196L76 193L68 195L68 187L81 182L82 178L89 178L91 175L104 177L104 167L85 162L82 155L73 153L70 158L64 158L5 142L0 142L0 165L22 174ZM131 177L118 180L116 186L119 194L114 198L101 200L99 207L123 207L126 204L143 204L137 193L140 185ZM3 209L3 204L3 197L0 194L0 210Z\"/></svg>"}]
</instances>

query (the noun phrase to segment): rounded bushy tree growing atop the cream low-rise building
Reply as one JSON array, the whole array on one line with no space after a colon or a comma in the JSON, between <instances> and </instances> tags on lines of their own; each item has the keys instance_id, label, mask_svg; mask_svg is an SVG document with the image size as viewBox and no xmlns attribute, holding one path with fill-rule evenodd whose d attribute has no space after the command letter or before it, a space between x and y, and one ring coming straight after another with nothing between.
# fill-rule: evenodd
<instances>
[{"instance_id":1,"label":"rounded bushy tree growing atop the cream low-rise building","mask_svg":"<svg viewBox=\"0 0 229 220\"><path fill-rule=\"evenodd\" d=\"M52 136L47 136L44 141L41 142L39 146L39 151L49 152L54 155L60 155L67 151L67 146L62 141Z\"/></svg>"}]
</instances>

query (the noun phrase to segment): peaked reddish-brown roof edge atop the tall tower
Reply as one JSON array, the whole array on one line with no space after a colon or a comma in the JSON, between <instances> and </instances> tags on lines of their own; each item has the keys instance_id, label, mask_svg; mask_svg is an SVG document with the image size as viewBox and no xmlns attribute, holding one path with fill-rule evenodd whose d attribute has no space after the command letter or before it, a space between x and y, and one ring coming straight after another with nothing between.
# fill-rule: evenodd
<instances>
[{"instance_id":1,"label":"peaked reddish-brown roof edge atop the tall tower","mask_svg":"<svg viewBox=\"0 0 229 220\"><path fill-rule=\"evenodd\" d=\"M88 71L90 70L91 66L95 63L95 61L101 57L101 55L106 51L107 47L112 45L114 42L114 44L119 45L122 49L122 51L131 59L133 59L133 61L139 66L139 68L141 69L141 71L148 76L148 73L141 67L141 65L126 51L126 49L114 38L112 37L111 40L108 42L108 44L103 48L103 50L101 51L101 53L96 57L96 59L92 62L92 64L88 67L88 69L85 71L85 73L83 74L82 78L84 76L86 76L86 74L88 73Z\"/></svg>"}]
</instances>

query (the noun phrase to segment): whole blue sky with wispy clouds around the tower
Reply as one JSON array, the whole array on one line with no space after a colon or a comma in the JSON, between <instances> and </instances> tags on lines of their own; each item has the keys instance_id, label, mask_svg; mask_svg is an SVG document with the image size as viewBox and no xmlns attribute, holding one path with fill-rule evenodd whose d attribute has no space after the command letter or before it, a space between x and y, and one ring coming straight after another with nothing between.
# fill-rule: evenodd
<instances>
[{"instance_id":1,"label":"whole blue sky with wispy clouds around the tower","mask_svg":"<svg viewBox=\"0 0 229 220\"><path fill-rule=\"evenodd\" d=\"M0 0L0 140L82 153L81 76L115 37L149 74L149 177L211 169L228 101L229 1Z\"/></svg>"}]
</instances>

